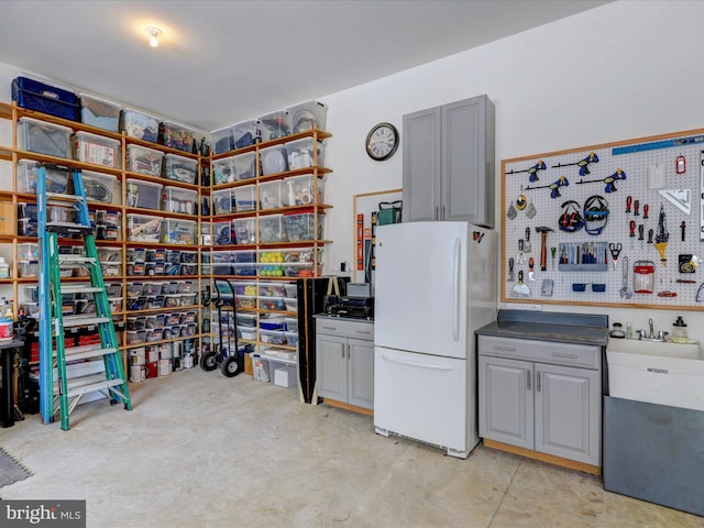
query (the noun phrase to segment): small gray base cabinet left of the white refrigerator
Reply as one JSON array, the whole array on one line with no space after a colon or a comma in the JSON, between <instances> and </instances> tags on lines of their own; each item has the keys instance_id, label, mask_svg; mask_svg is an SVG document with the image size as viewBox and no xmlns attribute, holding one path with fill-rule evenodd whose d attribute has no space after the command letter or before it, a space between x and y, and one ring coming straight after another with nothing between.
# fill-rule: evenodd
<instances>
[{"instance_id":1,"label":"small gray base cabinet left of the white refrigerator","mask_svg":"<svg viewBox=\"0 0 704 528\"><path fill-rule=\"evenodd\" d=\"M374 408L374 324L316 317L318 396Z\"/></svg>"}]
</instances>

